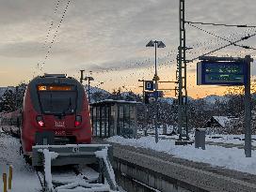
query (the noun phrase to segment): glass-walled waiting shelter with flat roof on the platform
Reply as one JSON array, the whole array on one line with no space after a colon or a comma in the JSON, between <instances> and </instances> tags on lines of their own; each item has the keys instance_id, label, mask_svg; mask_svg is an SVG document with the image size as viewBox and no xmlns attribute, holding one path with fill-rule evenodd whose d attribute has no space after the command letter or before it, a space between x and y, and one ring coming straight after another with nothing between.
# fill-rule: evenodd
<instances>
[{"instance_id":1,"label":"glass-walled waiting shelter with flat roof on the platform","mask_svg":"<svg viewBox=\"0 0 256 192\"><path fill-rule=\"evenodd\" d=\"M92 135L136 138L136 101L107 99L90 104Z\"/></svg>"}]
</instances>

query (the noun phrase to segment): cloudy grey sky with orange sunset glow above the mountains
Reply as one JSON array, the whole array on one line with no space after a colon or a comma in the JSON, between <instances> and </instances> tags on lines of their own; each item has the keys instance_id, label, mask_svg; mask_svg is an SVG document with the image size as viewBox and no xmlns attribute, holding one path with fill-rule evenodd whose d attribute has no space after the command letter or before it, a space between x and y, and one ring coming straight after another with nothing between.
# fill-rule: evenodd
<instances>
[{"instance_id":1,"label":"cloudy grey sky with orange sunset glow above the mountains","mask_svg":"<svg viewBox=\"0 0 256 192\"><path fill-rule=\"evenodd\" d=\"M255 0L185 0L185 20L192 22L256 25L255 10ZM79 70L85 69L95 79L92 86L139 93L138 80L152 80L154 73L154 50L146 48L151 39L166 44L157 50L160 81L175 81L178 19L178 0L0 0L0 86L43 73L79 79ZM200 24L185 28L187 47L193 48L187 60L256 33L256 28ZM256 48L256 37L239 45ZM213 53L247 54L255 57L256 51L230 46ZM227 87L196 84L197 62L188 64L188 96L223 95ZM251 73L256 74L255 62ZM161 87L174 89L175 84Z\"/></svg>"}]
</instances>

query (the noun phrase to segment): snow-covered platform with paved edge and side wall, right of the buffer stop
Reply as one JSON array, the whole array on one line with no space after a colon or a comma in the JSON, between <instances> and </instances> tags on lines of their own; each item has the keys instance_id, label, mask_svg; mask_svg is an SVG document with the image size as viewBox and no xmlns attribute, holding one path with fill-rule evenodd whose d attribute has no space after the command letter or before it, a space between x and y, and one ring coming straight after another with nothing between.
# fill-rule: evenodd
<instances>
[{"instance_id":1,"label":"snow-covered platform with paved edge and side wall, right of the buffer stop","mask_svg":"<svg viewBox=\"0 0 256 192\"><path fill-rule=\"evenodd\" d=\"M256 191L255 152L246 158L242 149L207 145L201 150L194 145L175 146L174 140L155 144L151 137L108 141L113 145L115 169L158 190L169 191L174 185L188 191Z\"/></svg>"}]
</instances>

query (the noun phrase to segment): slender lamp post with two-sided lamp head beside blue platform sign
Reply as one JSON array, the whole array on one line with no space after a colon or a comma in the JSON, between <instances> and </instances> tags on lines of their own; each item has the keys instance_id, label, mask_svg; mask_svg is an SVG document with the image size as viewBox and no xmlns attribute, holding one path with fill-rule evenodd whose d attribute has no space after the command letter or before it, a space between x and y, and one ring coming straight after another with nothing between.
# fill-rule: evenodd
<instances>
[{"instance_id":1,"label":"slender lamp post with two-sided lamp head beside blue platform sign","mask_svg":"<svg viewBox=\"0 0 256 192\"><path fill-rule=\"evenodd\" d=\"M155 119L154 119L154 130L155 130L155 142L158 142L158 104L157 104L157 99L158 99L158 84L157 81L159 81L159 77L157 76L157 60L156 60L156 49L157 48L165 48L166 45L159 40L154 40L150 41L146 47L154 47L154 76L152 81L154 81L154 94L155 94L155 104L156 104L156 111L155 111Z\"/></svg>"}]
</instances>

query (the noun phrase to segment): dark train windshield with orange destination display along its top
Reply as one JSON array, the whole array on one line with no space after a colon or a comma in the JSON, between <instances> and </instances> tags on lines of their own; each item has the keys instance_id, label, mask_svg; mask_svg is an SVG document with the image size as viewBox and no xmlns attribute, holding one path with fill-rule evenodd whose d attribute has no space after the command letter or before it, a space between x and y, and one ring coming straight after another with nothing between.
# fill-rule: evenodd
<instances>
[{"instance_id":1,"label":"dark train windshield with orange destination display along its top","mask_svg":"<svg viewBox=\"0 0 256 192\"><path fill-rule=\"evenodd\" d=\"M46 114L72 114L76 109L76 91L74 88L57 87L45 89L39 87L40 108Z\"/></svg>"}]
</instances>

